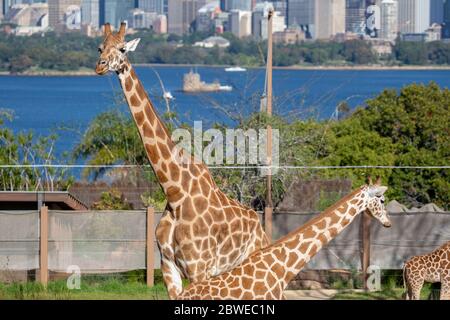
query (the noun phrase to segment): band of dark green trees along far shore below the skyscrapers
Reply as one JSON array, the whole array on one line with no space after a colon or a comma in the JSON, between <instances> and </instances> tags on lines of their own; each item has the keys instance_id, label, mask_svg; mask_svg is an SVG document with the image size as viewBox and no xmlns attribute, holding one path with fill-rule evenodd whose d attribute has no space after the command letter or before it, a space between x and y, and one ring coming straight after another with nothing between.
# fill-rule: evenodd
<instances>
[{"instance_id":1,"label":"band of dark green trees along far shore below the skyscrapers","mask_svg":"<svg viewBox=\"0 0 450 320\"><path fill-rule=\"evenodd\" d=\"M135 63L246 65L262 66L267 52L266 41L251 37L239 39L231 33L222 36L230 41L228 48L200 48L195 42L212 33L192 33L183 37L159 35L141 30L127 39L141 38L140 49L133 53ZM21 73L29 69L71 71L92 69L98 59L101 37L80 33L48 32L29 37L0 32L0 71ZM393 53L378 56L372 44L364 40L303 41L275 44L274 65L446 65L450 64L450 43L404 42L398 40Z\"/></svg>"}]
</instances>

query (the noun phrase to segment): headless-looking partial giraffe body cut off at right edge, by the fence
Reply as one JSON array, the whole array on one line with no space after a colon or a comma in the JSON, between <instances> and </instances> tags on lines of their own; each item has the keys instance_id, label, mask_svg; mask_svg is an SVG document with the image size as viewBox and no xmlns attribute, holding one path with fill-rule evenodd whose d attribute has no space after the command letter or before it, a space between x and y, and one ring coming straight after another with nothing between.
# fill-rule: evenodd
<instances>
[{"instance_id":1,"label":"headless-looking partial giraffe body cut off at right edge, by the fence","mask_svg":"<svg viewBox=\"0 0 450 320\"><path fill-rule=\"evenodd\" d=\"M429 254L415 256L403 266L406 300L420 300L424 282L441 283L441 300L450 300L450 241Z\"/></svg>"}]
</instances>

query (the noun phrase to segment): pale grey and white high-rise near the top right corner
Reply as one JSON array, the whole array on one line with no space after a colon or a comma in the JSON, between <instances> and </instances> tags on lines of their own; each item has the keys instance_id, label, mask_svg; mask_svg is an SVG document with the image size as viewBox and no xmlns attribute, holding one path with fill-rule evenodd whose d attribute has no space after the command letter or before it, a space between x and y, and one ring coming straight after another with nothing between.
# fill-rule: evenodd
<instances>
[{"instance_id":1,"label":"pale grey and white high-rise near the top right corner","mask_svg":"<svg viewBox=\"0 0 450 320\"><path fill-rule=\"evenodd\" d=\"M430 1L398 0L398 26L401 33L422 33L430 26Z\"/></svg>"}]
</instances>

